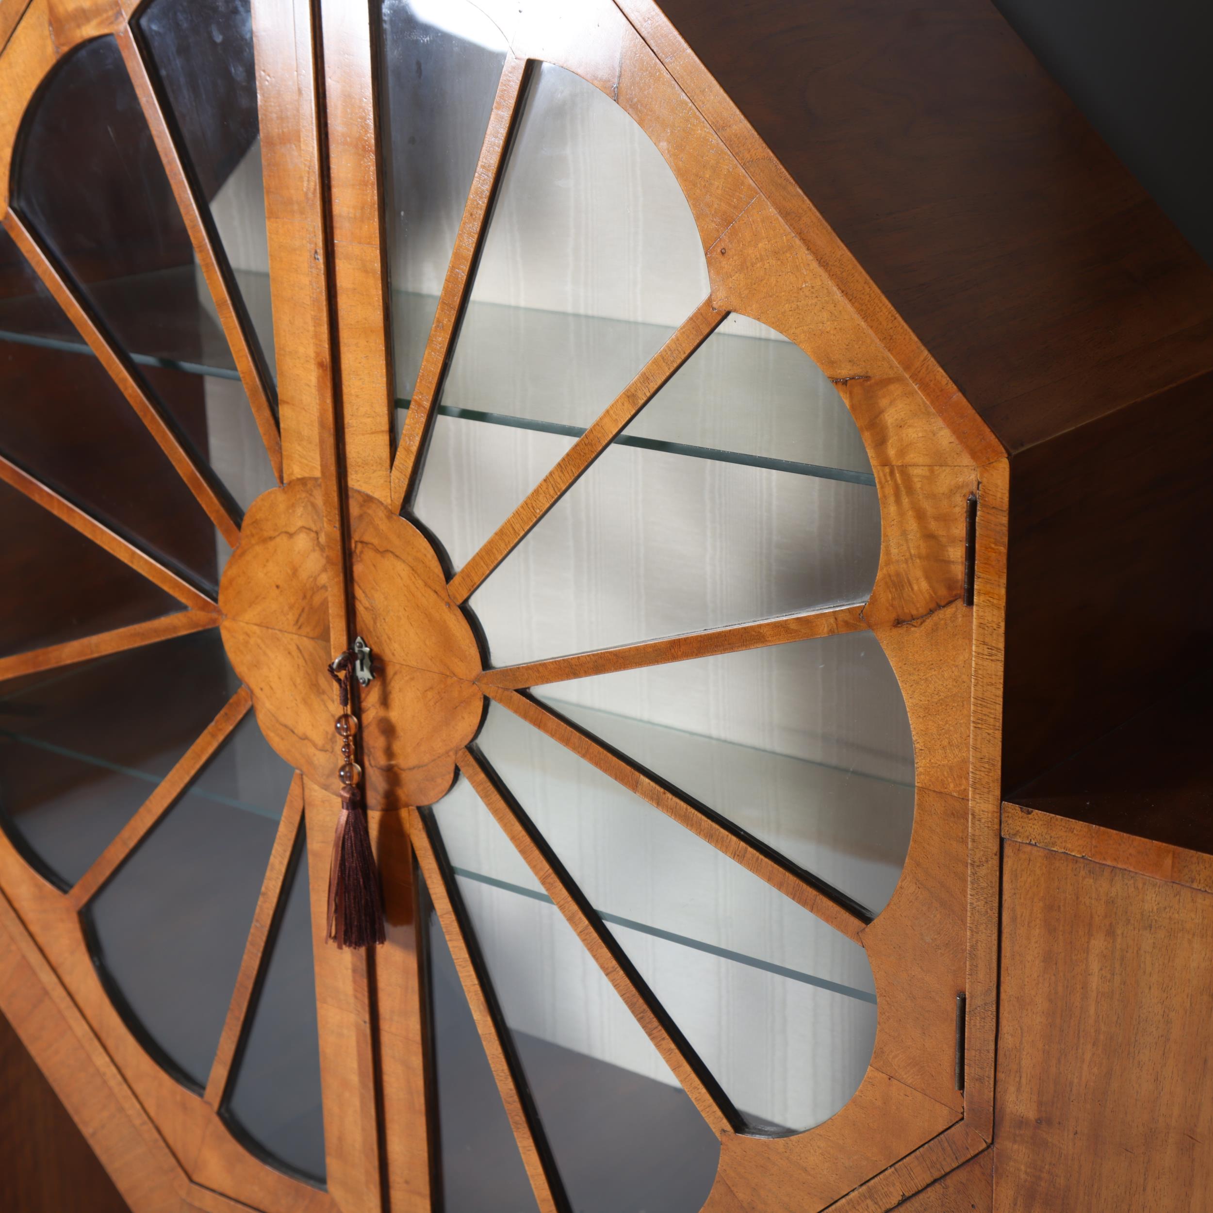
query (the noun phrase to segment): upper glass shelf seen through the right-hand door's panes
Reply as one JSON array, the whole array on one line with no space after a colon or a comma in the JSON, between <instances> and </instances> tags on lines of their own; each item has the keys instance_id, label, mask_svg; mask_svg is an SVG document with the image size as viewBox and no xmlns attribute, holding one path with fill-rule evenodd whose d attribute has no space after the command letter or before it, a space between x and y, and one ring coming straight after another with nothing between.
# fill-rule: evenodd
<instances>
[{"instance_id":1,"label":"upper glass shelf seen through the right-hand door's panes","mask_svg":"<svg viewBox=\"0 0 1213 1213\"><path fill-rule=\"evenodd\" d=\"M393 292L398 383L417 377L437 304L431 295ZM638 320L472 302L438 416L580 438L671 332ZM545 357L552 349L569 357ZM596 402L592 415L587 399ZM399 433L410 400L395 404ZM725 320L615 442L876 484L835 386L799 347L744 317Z\"/></svg>"}]
</instances>

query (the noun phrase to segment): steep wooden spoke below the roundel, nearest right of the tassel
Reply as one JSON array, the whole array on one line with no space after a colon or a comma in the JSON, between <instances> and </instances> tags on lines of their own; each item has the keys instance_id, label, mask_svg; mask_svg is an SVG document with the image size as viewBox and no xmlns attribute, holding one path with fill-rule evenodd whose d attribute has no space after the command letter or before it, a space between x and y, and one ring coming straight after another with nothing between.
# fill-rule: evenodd
<instances>
[{"instance_id":1,"label":"steep wooden spoke below the roundel, nearest right of the tassel","mask_svg":"<svg viewBox=\"0 0 1213 1213\"><path fill-rule=\"evenodd\" d=\"M433 814L429 809L410 809L409 820L417 862L426 877L431 900L446 936L446 946L455 959L455 968L467 995L492 1077L497 1082L506 1116L514 1131L535 1200L541 1213L568 1213L570 1206L564 1184L540 1123L539 1110L514 1049L509 1027L489 980L463 899L456 888L455 873L446 859L446 849L438 835Z\"/></svg>"}]
</instances>

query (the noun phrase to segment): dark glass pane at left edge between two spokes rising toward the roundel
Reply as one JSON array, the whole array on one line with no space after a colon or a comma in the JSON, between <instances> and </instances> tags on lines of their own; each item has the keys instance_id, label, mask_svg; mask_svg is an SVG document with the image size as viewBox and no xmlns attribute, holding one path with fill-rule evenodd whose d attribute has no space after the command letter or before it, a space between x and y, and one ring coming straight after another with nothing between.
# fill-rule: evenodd
<instances>
[{"instance_id":1,"label":"dark glass pane at left edge between two spokes rising toward the roundel","mask_svg":"<svg viewBox=\"0 0 1213 1213\"><path fill-rule=\"evenodd\" d=\"M69 888L234 690L217 628L0 687L0 824Z\"/></svg>"}]
</instances>

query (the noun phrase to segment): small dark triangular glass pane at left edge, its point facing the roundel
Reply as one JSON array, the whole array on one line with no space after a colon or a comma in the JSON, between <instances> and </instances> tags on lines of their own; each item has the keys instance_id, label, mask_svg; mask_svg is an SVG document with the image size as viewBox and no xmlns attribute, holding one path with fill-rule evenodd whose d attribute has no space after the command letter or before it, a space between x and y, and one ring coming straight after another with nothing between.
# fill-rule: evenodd
<instances>
[{"instance_id":1,"label":"small dark triangular glass pane at left edge, its point facing the roundel","mask_svg":"<svg viewBox=\"0 0 1213 1213\"><path fill-rule=\"evenodd\" d=\"M0 347L0 371L4 368ZM182 609L176 598L29 497L0 484L5 587L0 656Z\"/></svg>"}]
</instances>

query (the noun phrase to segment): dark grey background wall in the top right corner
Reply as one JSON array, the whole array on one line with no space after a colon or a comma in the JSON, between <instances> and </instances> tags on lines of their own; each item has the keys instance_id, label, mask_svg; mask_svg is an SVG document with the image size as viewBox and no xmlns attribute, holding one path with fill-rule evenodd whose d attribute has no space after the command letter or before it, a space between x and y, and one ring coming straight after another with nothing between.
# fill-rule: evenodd
<instances>
[{"instance_id":1,"label":"dark grey background wall in the top right corner","mask_svg":"<svg viewBox=\"0 0 1213 1213\"><path fill-rule=\"evenodd\" d=\"M995 0L1213 266L1213 0Z\"/></svg>"}]
</instances>

